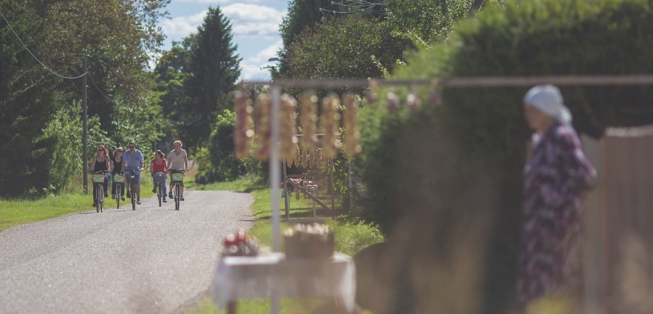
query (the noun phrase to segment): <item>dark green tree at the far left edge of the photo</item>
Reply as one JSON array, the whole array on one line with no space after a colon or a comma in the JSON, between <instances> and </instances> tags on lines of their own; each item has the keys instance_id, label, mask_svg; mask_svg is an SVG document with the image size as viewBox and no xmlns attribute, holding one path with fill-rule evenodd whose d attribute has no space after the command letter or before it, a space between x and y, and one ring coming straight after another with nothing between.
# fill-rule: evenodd
<instances>
[{"instance_id":1,"label":"dark green tree at the far left edge of the photo","mask_svg":"<svg viewBox=\"0 0 653 314\"><path fill-rule=\"evenodd\" d=\"M52 33L36 9L13 1L2 3L11 12L11 28L24 34L29 50L42 50ZM46 170L53 137L43 138L43 127L55 111L53 90L61 81L45 70L0 20L0 193L41 193L49 185ZM39 139L40 137L40 139Z\"/></svg>"}]
</instances>

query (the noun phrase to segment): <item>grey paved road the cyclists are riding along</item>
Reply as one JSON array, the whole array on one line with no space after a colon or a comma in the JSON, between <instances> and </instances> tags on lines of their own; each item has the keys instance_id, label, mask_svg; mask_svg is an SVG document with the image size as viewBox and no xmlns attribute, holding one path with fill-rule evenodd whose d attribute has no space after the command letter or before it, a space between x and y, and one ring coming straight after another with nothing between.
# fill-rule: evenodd
<instances>
[{"instance_id":1,"label":"grey paved road the cyclists are riding along","mask_svg":"<svg viewBox=\"0 0 653 314\"><path fill-rule=\"evenodd\" d=\"M0 313L169 313L207 291L221 239L251 227L247 193L187 191L0 232ZM89 197L89 202L90 202ZM47 210L44 208L43 210Z\"/></svg>"}]
</instances>

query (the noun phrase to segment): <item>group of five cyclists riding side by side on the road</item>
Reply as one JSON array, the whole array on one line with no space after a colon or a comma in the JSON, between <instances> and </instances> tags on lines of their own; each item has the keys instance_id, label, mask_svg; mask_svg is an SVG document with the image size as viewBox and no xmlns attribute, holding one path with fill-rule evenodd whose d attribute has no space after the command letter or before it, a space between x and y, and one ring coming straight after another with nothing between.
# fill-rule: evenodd
<instances>
[{"instance_id":1,"label":"group of five cyclists riding side by side on the road","mask_svg":"<svg viewBox=\"0 0 653 314\"><path fill-rule=\"evenodd\" d=\"M175 141L175 149L170 151L168 154L168 160L165 159L165 154L157 150L155 151L155 156L150 161L150 174L154 173L174 173L175 170L187 169L188 168L188 155L184 149L182 149L182 141ZM116 173L124 173L127 178L132 174L135 176L136 180L134 181L134 192L136 193L136 203L141 204L141 170L144 166L144 157L143 153L136 149L136 144L134 141L129 141L127 144L127 151L124 151L122 147L116 148L113 156L109 156L109 151L106 150L104 145L97 146L97 153L93 156L93 161L91 164L91 172L104 172L104 197L109 197L109 178L111 178ZM168 202L165 198L165 187L167 183L167 175L164 178L163 182L163 202ZM121 200L125 200L125 195L131 197L129 193L125 194L124 189L129 190L130 188L129 181L126 181L126 185L120 185L121 191ZM93 185L93 207L97 205L97 196L96 196L96 185ZM170 182L170 188L168 189L168 197L172 198L172 181ZM156 192L156 187L153 192ZM180 188L180 200L184 200L184 183L181 183ZM111 198L116 198L116 183L114 182L111 185Z\"/></svg>"}]
</instances>

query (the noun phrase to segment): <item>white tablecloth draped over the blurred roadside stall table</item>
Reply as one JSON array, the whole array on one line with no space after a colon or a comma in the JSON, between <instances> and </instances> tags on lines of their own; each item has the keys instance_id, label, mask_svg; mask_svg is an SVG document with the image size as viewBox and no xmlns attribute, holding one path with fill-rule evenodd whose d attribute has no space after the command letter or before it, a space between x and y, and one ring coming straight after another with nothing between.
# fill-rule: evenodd
<instances>
[{"instance_id":1,"label":"white tablecloth draped over the blurred roadside stall table","mask_svg":"<svg viewBox=\"0 0 653 314\"><path fill-rule=\"evenodd\" d=\"M230 301L283 297L339 298L351 312L356 296L356 266L351 256L331 259L287 259L284 254L229 256L216 262L211 286L219 309Z\"/></svg>"}]
</instances>

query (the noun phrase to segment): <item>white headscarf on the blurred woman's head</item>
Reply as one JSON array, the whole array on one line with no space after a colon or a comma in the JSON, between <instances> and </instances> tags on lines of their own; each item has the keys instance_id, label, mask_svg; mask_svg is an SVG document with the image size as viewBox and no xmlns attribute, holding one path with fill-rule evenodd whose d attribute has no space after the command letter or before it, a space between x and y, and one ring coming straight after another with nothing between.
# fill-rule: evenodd
<instances>
[{"instance_id":1,"label":"white headscarf on the blurred woman's head","mask_svg":"<svg viewBox=\"0 0 653 314\"><path fill-rule=\"evenodd\" d=\"M571 112L563 104L562 94L554 85L537 85L524 96L524 103L535 107L561 124L571 124Z\"/></svg>"}]
</instances>

